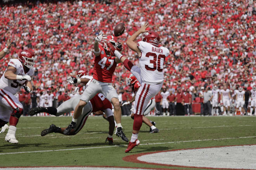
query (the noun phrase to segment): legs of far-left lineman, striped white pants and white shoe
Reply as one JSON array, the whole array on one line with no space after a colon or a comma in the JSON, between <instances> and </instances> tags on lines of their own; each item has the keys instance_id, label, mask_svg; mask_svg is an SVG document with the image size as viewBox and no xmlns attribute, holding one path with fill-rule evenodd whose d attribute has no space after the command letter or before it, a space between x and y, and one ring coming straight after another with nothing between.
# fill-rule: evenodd
<instances>
[{"instance_id":1,"label":"legs of far-left lineman, striped white pants and white shoe","mask_svg":"<svg viewBox=\"0 0 256 170\"><path fill-rule=\"evenodd\" d=\"M5 141L10 143L18 143L16 134L16 125L19 122L19 118L23 113L23 106L12 93L0 89L0 101L4 112L1 113L0 119L3 121L9 120L9 129L5 136ZM10 118L10 119L9 119Z\"/></svg>"}]
</instances>

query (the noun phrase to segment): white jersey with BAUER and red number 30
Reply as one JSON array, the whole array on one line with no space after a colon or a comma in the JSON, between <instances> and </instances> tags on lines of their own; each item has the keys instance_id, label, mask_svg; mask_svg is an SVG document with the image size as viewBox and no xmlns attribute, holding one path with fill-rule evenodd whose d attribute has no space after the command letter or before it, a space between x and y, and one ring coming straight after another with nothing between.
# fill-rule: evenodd
<instances>
[{"instance_id":1,"label":"white jersey with BAUER and red number 30","mask_svg":"<svg viewBox=\"0 0 256 170\"><path fill-rule=\"evenodd\" d=\"M139 41L137 47L141 51L139 57L140 76L142 82L157 84L164 81L163 65L169 50L165 47L156 47L144 41Z\"/></svg>"}]
</instances>

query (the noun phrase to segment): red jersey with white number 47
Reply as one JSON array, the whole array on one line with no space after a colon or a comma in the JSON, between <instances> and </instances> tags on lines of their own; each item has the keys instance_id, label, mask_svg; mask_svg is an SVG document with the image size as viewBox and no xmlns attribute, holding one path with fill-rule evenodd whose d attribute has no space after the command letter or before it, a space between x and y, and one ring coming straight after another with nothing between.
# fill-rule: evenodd
<instances>
[{"instance_id":1,"label":"red jersey with white number 47","mask_svg":"<svg viewBox=\"0 0 256 170\"><path fill-rule=\"evenodd\" d=\"M93 78L100 82L111 83L116 69L115 57L107 56L102 46L99 46L100 55L94 58Z\"/></svg>"}]
</instances>

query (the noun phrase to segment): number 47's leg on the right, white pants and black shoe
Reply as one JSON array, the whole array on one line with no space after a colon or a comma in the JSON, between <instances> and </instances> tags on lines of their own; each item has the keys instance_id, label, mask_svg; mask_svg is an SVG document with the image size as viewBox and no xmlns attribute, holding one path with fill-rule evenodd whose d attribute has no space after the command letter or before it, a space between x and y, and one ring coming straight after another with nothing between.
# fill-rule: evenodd
<instances>
[{"instance_id":1,"label":"number 47's leg on the right, white pants and black shoe","mask_svg":"<svg viewBox=\"0 0 256 170\"><path fill-rule=\"evenodd\" d=\"M102 84L102 93L103 95L109 100L112 105L114 106L114 117L116 120L116 126L117 131L116 135L120 136L124 141L128 142L128 138L126 138L125 134L123 133L123 129L121 126L121 107L118 100L118 94L116 93L116 90L112 86L111 83L101 83Z\"/></svg>"}]
</instances>

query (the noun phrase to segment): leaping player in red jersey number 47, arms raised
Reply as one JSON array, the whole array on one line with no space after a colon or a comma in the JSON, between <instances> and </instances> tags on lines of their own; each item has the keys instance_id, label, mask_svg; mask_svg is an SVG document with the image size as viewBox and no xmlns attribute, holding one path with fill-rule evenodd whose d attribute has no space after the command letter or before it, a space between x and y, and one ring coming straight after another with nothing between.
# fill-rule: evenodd
<instances>
[{"instance_id":1,"label":"leaping player in red jersey number 47, arms raised","mask_svg":"<svg viewBox=\"0 0 256 170\"><path fill-rule=\"evenodd\" d=\"M83 107L97 93L102 93L114 106L114 117L117 123L116 135L128 142L129 140L126 138L121 127L121 107L118 100L118 94L112 86L112 75L116 69L117 63L120 63L120 60L114 55L111 55L110 49L106 44L107 41L111 42L119 51L122 49L121 44L116 41L114 36L100 34L95 37L93 80L81 95L81 99L74 109L73 119L63 133L69 134L70 131L76 127L77 119L81 115Z\"/></svg>"}]
</instances>

